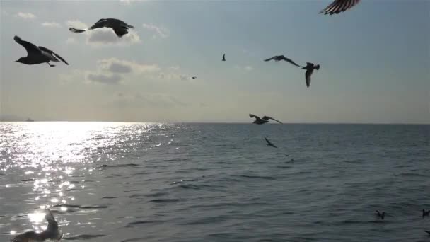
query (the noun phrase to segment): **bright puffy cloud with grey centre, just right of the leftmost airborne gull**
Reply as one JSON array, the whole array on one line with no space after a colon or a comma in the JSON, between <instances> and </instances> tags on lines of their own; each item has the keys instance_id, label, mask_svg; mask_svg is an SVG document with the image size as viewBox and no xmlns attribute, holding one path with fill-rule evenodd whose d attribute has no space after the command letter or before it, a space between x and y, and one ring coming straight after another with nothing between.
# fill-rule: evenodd
<instances>
[{"instance_id":1,"label":"bright puffy cloud with grey centre, just right of the leftmost airborne gull","mask_svg":"<svg viewBox=\"0 0 430 242\"><path fill-rule=\"evenodd\" d=\"M100 59L97 61L100 69L110 71L112 73L132 73L142 74L160 71L160 67L156 64L140 64L137 62L129 62L116 58Z\"/></svg>"}]
</instances>

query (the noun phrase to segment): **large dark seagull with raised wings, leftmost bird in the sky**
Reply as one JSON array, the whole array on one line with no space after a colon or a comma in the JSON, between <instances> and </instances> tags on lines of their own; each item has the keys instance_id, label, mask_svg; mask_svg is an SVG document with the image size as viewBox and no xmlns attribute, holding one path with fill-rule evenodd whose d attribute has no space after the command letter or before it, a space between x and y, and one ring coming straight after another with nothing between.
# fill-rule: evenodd
<instances>
[{"instance_id":1,"label":"large dark seagull with raised wings, leftmost bird in the sky","mask_svg":"<svg viewBox=\"0 0 430 242\"><path fill-rule=\"evenodd\" d=\"M27 50L27 56L21 57L15 62L20 62L23 64L41 64L46 62L50 65L50 67L55 67L55 65L50 64L50 62L59 62L58 59L61 59L62 62L66 63L67 65L69 64L62 57L60 57L59 54L54 53L48 48L42 46L37 47L30 42L22 40L18 36L13 37L13 40L22 45L25 50Z\"/></svg>"}]
</instances>

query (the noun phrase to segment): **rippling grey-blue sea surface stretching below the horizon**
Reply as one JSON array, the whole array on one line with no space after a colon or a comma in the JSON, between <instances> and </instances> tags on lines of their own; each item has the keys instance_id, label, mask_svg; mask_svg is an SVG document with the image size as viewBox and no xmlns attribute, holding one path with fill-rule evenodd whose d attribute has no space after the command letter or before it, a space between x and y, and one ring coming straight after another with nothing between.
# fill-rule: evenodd
<instances>
[{"instance_id":1,"label":"rippling grey-blue sea surface stretching below the horizon","mask_svg":"<svg viewBox=\"0 0 430 242\"><path fill-rule=\"evenodd\" d=\"M429 125L3 122L0 134L0 241L44 229L45 207L65 241L430 240Z\"/></svg>"}]
</instances>

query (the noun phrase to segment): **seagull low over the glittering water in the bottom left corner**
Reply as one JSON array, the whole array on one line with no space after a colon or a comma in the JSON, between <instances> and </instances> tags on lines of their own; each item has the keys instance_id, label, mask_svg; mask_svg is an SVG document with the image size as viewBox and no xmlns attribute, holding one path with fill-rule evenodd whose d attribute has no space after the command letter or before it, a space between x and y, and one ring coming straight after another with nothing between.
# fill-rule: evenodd
<instances>
[{"instance_id":1,"label":"seagull low over the glittering water in the bottom left corner","mask_svg":"<svg viewBox=\"0 0 430 242\"><path fill-rule=\"evenodd\" d=\"M45 231L36 233L35 231L27 231L23 234L18 234L11 239L11 242L42 242L50 239L51 241L60 241L63 237L61 229L58 227L57 221L55 221L54 215L50 209L47 209L45 219L48 221L48 226Z\"/></svg>"}]
</instances>

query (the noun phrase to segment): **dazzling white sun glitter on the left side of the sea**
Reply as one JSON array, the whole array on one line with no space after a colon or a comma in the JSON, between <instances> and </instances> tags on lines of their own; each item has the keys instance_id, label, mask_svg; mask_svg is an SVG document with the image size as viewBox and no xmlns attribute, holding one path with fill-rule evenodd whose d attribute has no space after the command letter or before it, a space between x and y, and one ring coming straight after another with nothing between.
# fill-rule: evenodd
<instances>
[{"instance_id":1,"label":"dazzling white sun glitter on the left side of the sea","mask_svg":"<svg viewBox=\"0 0 430 242\"><path fill-rule=\"evenodd\" d=\"M6 189L30 186L29 209L23 226L14 226L10 234L33 227L45 229L45 211L70 212L69 204L79 204L79 192L88 190L87 179L95 171L93 163L110 162L134 152L151 134L165 132L162 124L129 124L113 122L25 122L1 123L0 171L16 174L16 183ZM157 142L147 149L162 144ZM101 165L101 164L100 164ZM91 194L91 192L87 192ZM40 209L35 210L35 205ZM76 221L79 222L79 221ZM61 221L68 224L69 221ZM89 224L88 221L81 221Z\"/></svg>"}]
</instances>

